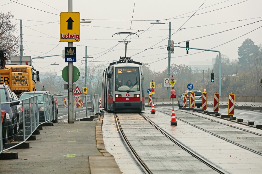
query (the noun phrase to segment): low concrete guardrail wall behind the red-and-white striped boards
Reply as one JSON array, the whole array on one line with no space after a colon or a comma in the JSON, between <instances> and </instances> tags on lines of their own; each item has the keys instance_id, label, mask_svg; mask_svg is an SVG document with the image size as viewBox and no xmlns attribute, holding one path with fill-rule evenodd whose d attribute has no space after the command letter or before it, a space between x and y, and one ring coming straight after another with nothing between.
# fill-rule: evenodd
<instances>
[{"instance_id":1,"label":"low concrete guardrail wall behind the red-and-white striped boards","mask_svg":"<svg viewBox=\"0 0 262 174\"><path fill-rule=\"evenodd\" d=\"M174 104L178 105L178 97L174 98ZM213 96L208 96L207 104L213 105ZM171 98L154 98L155 105L172 104ZM145 105L148 106L148 99L145 99ZM247 109L262 109L262 96L235 96L235 107L247 107ZM228 96L219 97L219 106L228 106Z\"/></svg>"}]
</instances>

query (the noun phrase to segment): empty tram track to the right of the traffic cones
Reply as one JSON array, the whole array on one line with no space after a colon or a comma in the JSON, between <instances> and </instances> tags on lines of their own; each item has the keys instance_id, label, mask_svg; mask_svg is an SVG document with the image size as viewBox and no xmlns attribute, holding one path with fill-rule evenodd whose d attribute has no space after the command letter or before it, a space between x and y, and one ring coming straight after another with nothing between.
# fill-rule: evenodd
<instances>
[{"instance_id":1,"label":"empty tram track to the right of the traffic cones","mask_svg":"<svg viewBox=\"0 0 262 174\"><path fill-rule=\"evenodd\" d=\"M163 108L163 109L166 109L166 108ZM172 115L169 114L169 113L165 113L165 112L160 111L160 110L157 110L157 109L155 109L155 110L158 111L158 112L164 113L164 114L166 114L166 115L169 115L170 117L172 117ZM171 109L166 109L166 110L171 110ZM178 110L178 111L179 111L179 112L188 113L188 114L191 114L191 115L195 115L195 116L199 116L199 115L197 115L197 114L193 114L193 113L190 113L190 112L185 112L185 111L180 111L180 110ZM203 117L203 116L199 116L199 117L205 118L205 117ZM229 143L232 143L232 144L234 144L234 145L237 145L237 146L239 146L239 147L241 147L241 148L243 148L243 149L249 150L249 151L251 151L251 152L253 152L253 153L256 153L256 154L258 154L258 155L262 155L262 153L260 153L260 152L257 152L257 151L255 151L255 150L253 150L253 149L250 149L250 148L248 148L248 147L245 147L245 146L243 146L243 145L241 145L241 144L238 144L238 143L236 143L236 142L234 142L234 141L231 141L231 140L229 140L229 139L227 139L227 138L224 138L224 137L222 137L222 136L220 136L220 135L216 135L215 133L212 133L211 131L205 130L205 129L203 129L203 128L201 128L201 127L198 127L198 126L196 126L196 125L194 125L194 124L191 124L191 123L189 123L188 121L184 121L184 120L181 119L181 118L177 118L177 117L176 117L176 119L178 119L179 121L183 121L184 123L187 123L187 124L189 124L189 125L191 125L191 126L193 126L193 127L196 127L197 129L200 129L200 130L203 130L203 131L205 131L205 132L207 132L207 133L210 133L211 135L214 135L214 136L216 136L216 137L218 137L218 138L221 138L221 139L223 139L223 140L225 140L225 141L227 141L227 142L229 142ZM208 120L210 120L210 121L214 121L214 122L217 122L217 123L220 123L220 124L224 124L224 125L226 125L226 126L230 126L230 127L233 127L233 128L239 129L239 130L243 130L243 131L246 131L246 132L248 132L248 133L253 133L253 134L255 134L255 135L262 136L262 135L259 134L259 133L255 133L255 132L252 132L252 131L249 131L249 130L245 130L245 129L242 129L242 128L239 128L239 127L235 127L235 126L232 126L232 125L228 125L228 124L225 124L225 123L216 121L216 120L212 120L212 119L210 119L210 118L205 118L205 119L208 119Z\"/></svg>"}]
</instances>

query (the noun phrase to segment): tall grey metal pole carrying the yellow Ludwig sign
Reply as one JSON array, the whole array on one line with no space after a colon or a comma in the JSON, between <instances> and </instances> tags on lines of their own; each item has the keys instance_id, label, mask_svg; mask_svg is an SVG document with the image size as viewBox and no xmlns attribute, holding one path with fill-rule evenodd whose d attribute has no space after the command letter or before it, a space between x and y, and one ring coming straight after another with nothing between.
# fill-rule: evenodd
<instances>
[{"instance_id":1,"label":"tall grey metal pole carrying the yellow Ludwig sign","mask_svg":"<svg viewBox=\"0 0 262 174\"><path fill-rule=\"evenodd\" d=\"M68 0L68 12L73 12L73 0ZM73 42L68 42L72 47ZM68 63L68 123L74 123L73 62Z\"/></svg>"}]
</instances>

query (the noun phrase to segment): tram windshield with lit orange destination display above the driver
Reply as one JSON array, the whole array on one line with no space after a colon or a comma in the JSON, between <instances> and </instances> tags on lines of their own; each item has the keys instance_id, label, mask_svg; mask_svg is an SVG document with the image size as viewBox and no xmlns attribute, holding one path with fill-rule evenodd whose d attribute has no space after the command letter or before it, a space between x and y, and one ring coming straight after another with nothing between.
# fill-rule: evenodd
<instances>
[{"instance_id":1,"label":"tram windshield with lit orange destination display above the driver","mask_svg":"<svg viewBox=\"0 0 262 174\"><path fill-rule=\"evenodd\" d=\"M140 91L139 67L117 67L115 72L116 91Z\"/></svg>"}]
</instances>

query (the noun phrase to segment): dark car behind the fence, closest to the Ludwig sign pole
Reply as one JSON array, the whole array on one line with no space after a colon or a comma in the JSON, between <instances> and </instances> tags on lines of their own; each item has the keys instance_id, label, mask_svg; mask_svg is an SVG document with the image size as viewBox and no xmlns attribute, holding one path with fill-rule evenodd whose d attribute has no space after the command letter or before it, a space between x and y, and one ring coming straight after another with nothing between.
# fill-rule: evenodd
<instances>
[{"instance_id":1,"label":"dark car behind the fence, closest to the Ludwig sign pole","mask_svg":"<svg viewBox=\"0 0 262 174\"><path fill-rule=\"evenodd\" d=\"M37 96L41 94L50 94L51 96L51 102L46 102L46 96L38 96L37 97L37 102L38 102L38 113L39 113L39 122L45 122L45 106L52 107L52 114L54 115L54 118L57 119L58 116L58 108L57 105L54 104L54 97L51 95L49 91L32 91L32 92L24 92L19 96L19 100L26 99L32 96ZM47 105L46 105L47 104ZM25 116L29 116L29 101L26 100L24 104L24 112Z\"/></svg>"}]
</instances>

